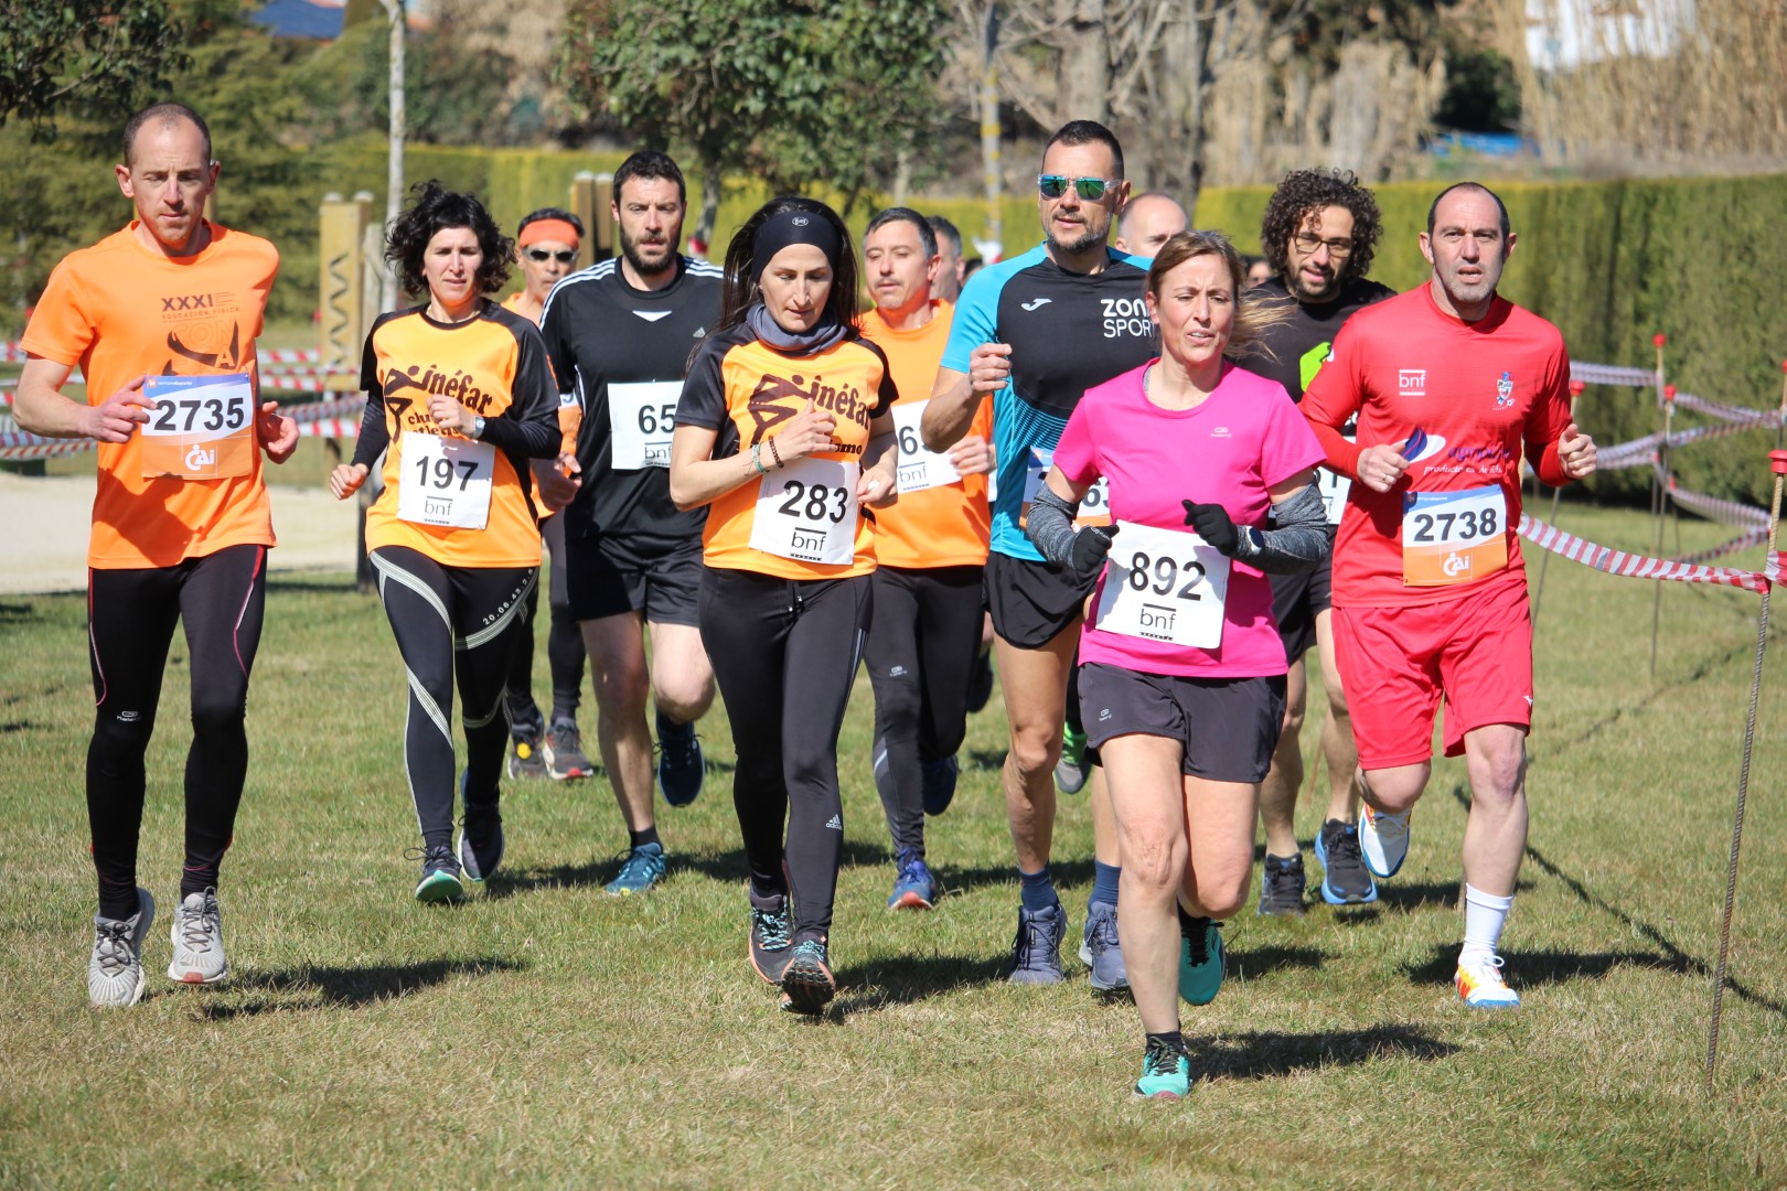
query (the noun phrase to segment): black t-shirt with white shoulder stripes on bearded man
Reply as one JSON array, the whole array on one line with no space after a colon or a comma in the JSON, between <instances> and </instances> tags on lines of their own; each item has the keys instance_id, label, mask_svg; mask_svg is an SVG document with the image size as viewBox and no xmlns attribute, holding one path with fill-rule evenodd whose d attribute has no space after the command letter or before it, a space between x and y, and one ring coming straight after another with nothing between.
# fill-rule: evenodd
<instances>
[{"instance_id":1,"label":"black t-shirt with white shoulder stripes on bearded man","mask_svg":"<svg viewBox=\"0 0 1787 1191\"><path fill-rule=\"evenodd\" d=\"M645 291L620 261L572 273L547 296L547 341L559 402L583 407L577 464L583 487L565 532L675 545L701 536L706 509L670 500L670 429L688 359L720 321L724 271L677 257L675 280Z\"/></svg>"}]
</instances>

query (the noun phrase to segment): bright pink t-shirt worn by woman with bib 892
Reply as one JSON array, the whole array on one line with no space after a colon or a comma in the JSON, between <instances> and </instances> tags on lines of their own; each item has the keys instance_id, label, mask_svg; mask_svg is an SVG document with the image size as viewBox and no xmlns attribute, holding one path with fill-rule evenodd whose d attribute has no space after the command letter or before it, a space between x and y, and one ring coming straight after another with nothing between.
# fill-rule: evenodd
<instances>
[{"instance_id":1,"label":"bright pink t-shirt worn by woman with bib 892","mask_svg":"<svg viewBox=\"0 0 1787 1191\"><path fill-rule=\"evenodd\" d=\"M1054 448L1054 464L1074 484L1110 479L1112 518L1190 532L1179 504L1188 498L1217 502L1235 525L1263 529L1272 486L1326 457L1276 380L1224 361L1215 393L1201 405L1162 409L1142 391L1147 368L1153 362L1088 389ZM1112 557L1122 559L1122 550L1119 532ZM1110 570L1099 577L1099 593L1108 577ZM1079 661L1194 679L1281 675L1272 584L1260 570L1233 562L1215 648L1104 632L1086 620Z\"/></svg>"}]
</instances>

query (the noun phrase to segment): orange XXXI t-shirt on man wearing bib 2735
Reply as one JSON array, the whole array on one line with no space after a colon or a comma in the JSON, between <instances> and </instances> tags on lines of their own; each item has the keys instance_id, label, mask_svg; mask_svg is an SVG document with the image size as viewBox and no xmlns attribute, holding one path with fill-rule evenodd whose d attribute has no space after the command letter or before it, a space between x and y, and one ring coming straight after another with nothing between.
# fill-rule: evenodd
<instances>
[{"instance_id":1,"label":"orange XXXI t-shirt on man wearing bib 2735","mask_svg":"<svg viewBox=\"0 0 1787 1191\"><path fill-rule=\"evenodd\" d=\"M89 405L145 375L254 377L254 341L279 273L279 250L207 223L211 243L200 252L166 257L145 248L136 227L132 221L63 257L21 346L80 368ZM88 566L177 566L227 546L275 545L257 443L248 455L247 473L231 479L147 479L143 434L100 443Z\"/></svg>"}]
</instances>

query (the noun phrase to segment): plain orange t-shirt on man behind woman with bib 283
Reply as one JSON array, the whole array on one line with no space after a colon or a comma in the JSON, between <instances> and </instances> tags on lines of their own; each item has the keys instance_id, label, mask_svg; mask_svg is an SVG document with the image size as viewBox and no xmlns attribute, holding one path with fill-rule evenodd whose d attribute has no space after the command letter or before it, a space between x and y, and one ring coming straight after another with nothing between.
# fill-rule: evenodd
<instances>
[{"instance_id":1,"label":"plain orange t-shirt on man behind woman with bib 283","mask_svg":"<svg viewBox=\"0 0 1787 1191\"><path fill-rule=\"evenodd\" d=\"M881 318L881 311L863 316L863 337L874 341L888 357L894 387L895 416L901 405L924 405L931 400L936 366L949 343L949 323L956 307L947 302L931 304L931 321L917 330L895 330ZM994 432L992 398L983 398L974 411L969 434L990 439ZM919 443L917 421L910 434L901 434L901 468L908 470L911 452ZM992 514L986 509L986 477L965 475L954 484L904 491L886 509L876 511L876 561L881 566L927 570L936 566L981 566L986 562L986 543L992 537Z\"/></svg>"}]
</instances>

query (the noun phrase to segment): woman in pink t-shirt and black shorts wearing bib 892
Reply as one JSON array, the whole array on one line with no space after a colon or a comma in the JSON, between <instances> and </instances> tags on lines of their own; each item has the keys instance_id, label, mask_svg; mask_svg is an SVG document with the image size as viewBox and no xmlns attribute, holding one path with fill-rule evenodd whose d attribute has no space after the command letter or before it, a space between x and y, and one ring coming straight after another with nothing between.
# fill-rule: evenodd
<instances>
[{"instance_id":1,"label":"woman in pink t-shirt and black shorts wearing bib 892","mask_svg":"<svg viewBox=\"0 0 1787 1191\"><path fill-rule=\"evenodd\" d=\"M1222 359L1272 318L1242 286L1240 255L1215 232L1160 248L1147 307L1162 357L1086 393L1029 514L1044 557L1103 571L1079 682L1124 861L1124 959L1147 1034L1140 1096L1190 1091L1178 1002L1215 998L1212 920L1247 898L1260 779L1285 714L1263 571L1308 570L1328 552L1315 436L1283 387ZM1074 532L1101 477L1113 527ZM1269 511L1276 529L1262 532Z\"/></svg>"}]
</instances>

